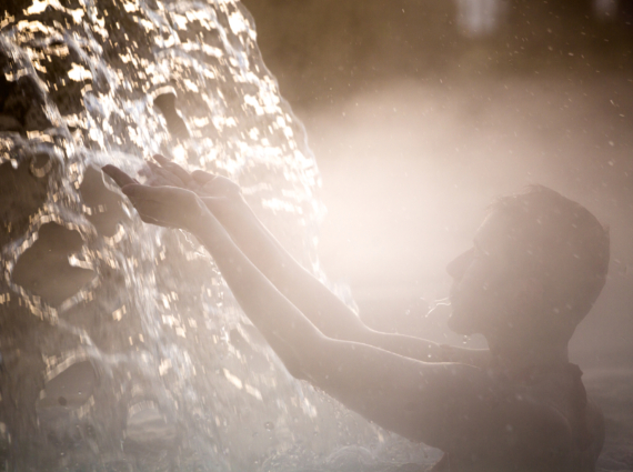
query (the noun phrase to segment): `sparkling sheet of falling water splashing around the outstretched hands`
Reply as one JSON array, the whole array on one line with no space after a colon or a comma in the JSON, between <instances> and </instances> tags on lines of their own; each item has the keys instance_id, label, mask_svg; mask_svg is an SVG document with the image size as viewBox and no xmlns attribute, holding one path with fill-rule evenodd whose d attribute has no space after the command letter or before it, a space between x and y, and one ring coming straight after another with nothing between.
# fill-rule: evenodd
<instances>
[{"instance_id":1,"label":"sparkling sheet of falling water splashing around the outstretched hands","mask_svg":"<svg viewBox=\"0 0 633 472\"><path fill-rule=\"evenodd\" d=\"M0 28L0 470L433 462L293 380L198 243L99 170L228 175L324 280L319 173L245 9L14 0Z\"/></svg>"}]
</instances>

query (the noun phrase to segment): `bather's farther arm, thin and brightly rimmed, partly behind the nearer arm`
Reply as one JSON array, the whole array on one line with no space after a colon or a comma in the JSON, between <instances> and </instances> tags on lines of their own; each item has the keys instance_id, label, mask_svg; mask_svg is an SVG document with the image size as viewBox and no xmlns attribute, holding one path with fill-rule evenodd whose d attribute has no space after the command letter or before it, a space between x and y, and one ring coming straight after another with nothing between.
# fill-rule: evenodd
<instances>
[{"instance_id":1,"label":"bather's farther arm, thin and brightly rimmed, partly behind the nearer arm","mask_svg":"<svg viewBox=\"0 0 633 472\"><path fill-rule=\"evenodd\" d=\"M369 329L277 241L248 205L235 183L202 171L190 174L160 155L155 159L161 167L151 164L151 168L161 183L195 190L239 249L326 337L374 345L426 362L485 363L486 354L481 351L440 347L431 341ZM131 182L115 168L107 167L104 171L120 183L125 183L125 179Z\"/></svg>"}]
</instances>

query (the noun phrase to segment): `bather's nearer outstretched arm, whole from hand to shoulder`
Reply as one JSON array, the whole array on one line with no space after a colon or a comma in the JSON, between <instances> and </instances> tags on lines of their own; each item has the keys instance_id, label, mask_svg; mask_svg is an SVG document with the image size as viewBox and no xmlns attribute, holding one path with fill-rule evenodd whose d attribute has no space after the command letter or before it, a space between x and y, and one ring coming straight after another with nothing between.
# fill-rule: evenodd
<instances>
[{"instance_id":1,"label":"bather's nearer outstretched arm, whole from hand to shoulder","mask_svg":"<svg viewBox=\"0 0 633 472\"><path fill-rule=\"evenodd\" d=\"M465 456L515 455L523 453L525 441L536 441L537 453L539 448L549 453L552 444L567 444L566 426L555 413L519 395L500 394L481 369L420 362L324 337L247 258L194 193L139 184L128 184L123 192L143 221L187 229L200 239L244 313L293 375L366 419ZM519 442L509 442L508 431L516 431ZM526 449L532 455L533 445Z\"/></svg>"}]
</instances>

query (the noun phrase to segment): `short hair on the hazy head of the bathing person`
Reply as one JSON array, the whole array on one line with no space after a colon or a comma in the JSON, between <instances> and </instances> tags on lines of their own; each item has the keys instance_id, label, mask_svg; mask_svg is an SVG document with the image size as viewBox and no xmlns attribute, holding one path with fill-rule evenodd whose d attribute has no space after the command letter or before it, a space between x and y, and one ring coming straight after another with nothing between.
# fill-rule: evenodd
<instances>
[{"instance_id":1,"label":"short hair on the hazy head of the bathing person","mask_svg":"<svg viewBox=\"0 0 633 472\"><path fill-rule=\"evenodd\" d=\"M580 203L543 185L498 199L491 211L509 219L511 260L543 285L546 307L571 338L606 281L609 229Z\"/></svg>"}]
</instances>

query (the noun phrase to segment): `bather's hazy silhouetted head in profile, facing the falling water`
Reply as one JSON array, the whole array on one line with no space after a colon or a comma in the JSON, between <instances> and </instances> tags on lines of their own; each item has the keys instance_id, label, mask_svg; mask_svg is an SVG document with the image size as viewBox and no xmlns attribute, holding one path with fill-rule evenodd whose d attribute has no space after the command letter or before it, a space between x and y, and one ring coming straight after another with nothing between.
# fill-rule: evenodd
<instances>
[{"instance_id":1,"label":"bather's hazy silhouetted head in profile, facing the falling water","mask_svg":"<svg viewBox=\"0 0 633 472\"><path fill-rule=\"evenodd\" d=\"M604 287L609 247L595 217L551 189L498 199L474 248L448 267L451 328L566 345Z\"/></svg>"}]
</instances>

